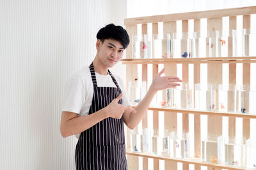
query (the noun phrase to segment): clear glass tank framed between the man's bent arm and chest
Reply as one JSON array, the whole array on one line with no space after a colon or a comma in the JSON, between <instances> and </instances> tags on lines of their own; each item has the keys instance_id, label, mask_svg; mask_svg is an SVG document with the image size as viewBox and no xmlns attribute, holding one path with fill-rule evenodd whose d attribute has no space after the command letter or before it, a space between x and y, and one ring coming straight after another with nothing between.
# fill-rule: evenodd
<instances>
[{"instance_id":1,"label":"clear glass tank framed between the man's bent arm and chest","mask_svg":"<svg viewBox=\"0 0 256 170\"><path fill-rule=\"evenodd\" d=\"M147 93L146 81L129 81L128 82L129 101L132 105L137 105Z\"/></svg>"}]
</instances>

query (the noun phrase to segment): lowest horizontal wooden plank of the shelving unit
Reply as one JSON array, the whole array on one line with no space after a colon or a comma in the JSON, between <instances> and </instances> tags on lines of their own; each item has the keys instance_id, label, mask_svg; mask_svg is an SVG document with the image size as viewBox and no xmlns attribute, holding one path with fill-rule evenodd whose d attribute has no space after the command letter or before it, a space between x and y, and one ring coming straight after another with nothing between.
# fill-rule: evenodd
<instances>
[{"instance_id":1,"label":"lowest horizontal wooden plank of the shelving unit","mask_svg":"<svg viewBox=\"0 0 256 170\"><path fill-rule=\"evenodd\" d=\"M246 167L236 167L236 166L229 166L225 164L216 164L216 163L211 163L211 162L203 162L202 159L200 158L186 158L186 159L177 159L177 158L172 158L169 156L159 156L159 155L152 155L151 153L140 153L140 152L131 152L130 148L126 148L126 154L127 155L132 155L132 156L137 156L137 157L147 157L147 158L152 158L152 159L161 159L161 160L171 160L173 162L181 162L181 163L186 163L186 164L195 164L199 166L207 166L207 167L214 167L214 168L224 168L224 169L229 169L229 170L235 170L235 169L246 169Z\"/></svg>"}]
</instances>

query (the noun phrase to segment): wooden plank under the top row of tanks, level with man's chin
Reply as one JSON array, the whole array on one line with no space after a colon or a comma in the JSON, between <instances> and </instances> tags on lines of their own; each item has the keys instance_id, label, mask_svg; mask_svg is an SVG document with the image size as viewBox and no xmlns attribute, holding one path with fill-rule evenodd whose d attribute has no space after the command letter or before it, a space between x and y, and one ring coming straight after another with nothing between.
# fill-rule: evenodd
<instances>
[{"instance_id":1,"label":"wooden plank under the top row of tanks, level with man's chin","mask_svg":"<svg viewBox=\"0 0 256 170\"><path fill-rule=\"evenodd\" d=\"M122 59L122 64L166 64L168 62L177 63L207 63L207 62L256 62L256 57L203 57L203 58L172 58L172 59Z\"/></svg>"}]
</instances>

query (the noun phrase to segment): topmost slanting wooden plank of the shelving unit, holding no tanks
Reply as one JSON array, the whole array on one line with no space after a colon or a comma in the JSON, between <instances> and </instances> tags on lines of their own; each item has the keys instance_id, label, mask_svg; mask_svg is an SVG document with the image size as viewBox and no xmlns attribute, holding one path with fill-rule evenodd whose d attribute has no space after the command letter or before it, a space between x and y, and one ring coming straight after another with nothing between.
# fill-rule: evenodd
<instances>
[{"instance_id":1,"label":"topmost slanting wooden plank of the shelving unit, holding no tanks","mask_svg":"<svg viewBox=\"0 0 256 170\"><path fill-rule=\"evenodd\" d=\"M176 20L190 20L200 18L236 17L237 15L250 15L256 12L256 6L241 8L228 8L221 10L195 11L187 13L173 13L167 15L154 15L148 17L125 18L124 25L147 24L156 22L172 22Z\"/></svg>"}]
</instances>

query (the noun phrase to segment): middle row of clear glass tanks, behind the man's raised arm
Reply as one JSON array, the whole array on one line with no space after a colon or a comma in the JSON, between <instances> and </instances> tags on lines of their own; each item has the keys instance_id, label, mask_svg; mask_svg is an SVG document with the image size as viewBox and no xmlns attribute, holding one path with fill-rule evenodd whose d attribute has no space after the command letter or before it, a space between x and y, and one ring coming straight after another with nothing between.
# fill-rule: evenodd
<instances>
[{"instance_id":1,"label":"middle row of clear glass tanks, behind the man's raised arm","mask_svg":"<svg viewBox=\"0 0 256 170\"><path fill-rule=\"evenodd\" d=\"M133 105L140 103L146 92L146 82L139 86L129 82L129 99ZM198 83L195 84L194 95L195 107L193 89L188 83L182 83L179 87L157 92L156 100L150 106L256 114L253 103L256 101L256 86Z\"/></svg>"}]
</instances>

